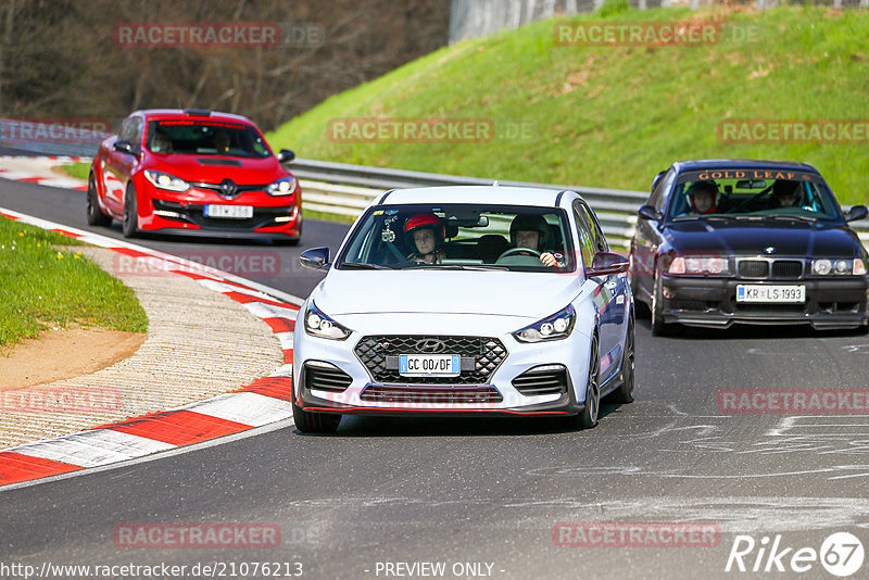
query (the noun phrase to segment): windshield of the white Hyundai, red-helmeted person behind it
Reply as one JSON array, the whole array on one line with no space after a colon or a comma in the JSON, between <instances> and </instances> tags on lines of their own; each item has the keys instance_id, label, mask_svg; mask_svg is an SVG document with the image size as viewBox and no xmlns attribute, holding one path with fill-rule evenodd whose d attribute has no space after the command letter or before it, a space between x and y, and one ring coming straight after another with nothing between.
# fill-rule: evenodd
<instances>
[{"instance_id":1,"label":"windshield of the white Hyundai, red-helmeted person behind it","mask_svg":"<svg viewBox=\"0 0 869 580\"><path fill-rule=\"evenodd\" d=\"M566 214L554 207L380 205L354 228L336 267L567 272L570 250Z\"/></svg>"}]
</instances>

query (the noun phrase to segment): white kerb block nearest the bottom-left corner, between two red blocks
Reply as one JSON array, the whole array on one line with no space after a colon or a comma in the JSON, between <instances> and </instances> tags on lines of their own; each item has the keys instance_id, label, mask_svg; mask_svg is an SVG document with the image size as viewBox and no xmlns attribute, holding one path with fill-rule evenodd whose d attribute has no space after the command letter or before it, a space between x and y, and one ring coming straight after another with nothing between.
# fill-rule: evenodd
<instances>
[{"instance_id":1,"label":"white kerb block nearest the bottom-left corner, between two red blocks","mask_svg":"<svg viewBox=\"0 0 869 580\"><path fill-rule=\"evenodd\" d=\"M26 443L10 451L79 467L97 467L174 447L162 441L101 429Z\"/></svg>"}]
</instances>

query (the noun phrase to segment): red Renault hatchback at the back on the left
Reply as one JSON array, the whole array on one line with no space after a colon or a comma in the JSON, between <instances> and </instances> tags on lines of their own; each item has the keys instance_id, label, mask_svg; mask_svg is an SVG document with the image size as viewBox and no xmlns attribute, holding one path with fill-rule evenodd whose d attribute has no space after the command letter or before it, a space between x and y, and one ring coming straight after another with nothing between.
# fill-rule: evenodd
<instances>
[{"instance_id":1,"label":"red Renault hatchback at the back on the left","mask_svg":"<svg viewBox=\"0 0 869 580\"><path fill-rule=\"evenodd\" d=\"M299 243L301 188L248 118L203 110L136 111L100 143L88 224L139 231Z\"/></svg>"}]
</instances>

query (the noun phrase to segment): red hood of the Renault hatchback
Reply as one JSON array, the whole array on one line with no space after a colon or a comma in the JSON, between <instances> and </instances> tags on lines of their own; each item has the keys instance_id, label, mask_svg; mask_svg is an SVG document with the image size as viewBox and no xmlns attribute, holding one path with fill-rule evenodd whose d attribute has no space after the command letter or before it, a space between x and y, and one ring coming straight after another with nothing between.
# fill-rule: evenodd
<instances>
[{"instance_id":1,"label":"red hood of the Renault hatchback","mask_svg":"<svg viewBox=\"0 0 869 580\"><path fill-rule=\"evenodd\" d=\"M245 159L149 154L143 167L172 174L185 181L219 184L224 179L231 179L240 186L266 185L290 175L275 156Z\"/></svg>"}]
</instances>

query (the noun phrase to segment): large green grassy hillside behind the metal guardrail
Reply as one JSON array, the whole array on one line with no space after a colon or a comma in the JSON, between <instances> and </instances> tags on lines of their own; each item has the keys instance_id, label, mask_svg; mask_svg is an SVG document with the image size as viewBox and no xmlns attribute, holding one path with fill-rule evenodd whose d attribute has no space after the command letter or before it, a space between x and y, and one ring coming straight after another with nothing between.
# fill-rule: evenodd
<instances>
[{"instance_id":1,"label":"large green grassy hillside behind the metal guardrail","mask_svg":"<svg viewBox=\"0 0 869 580\"><path fill-rule=\"evenodd\" d=\"M843 203L869 202L869 144L728 144L716 134L728 118L869 118L869 11L709 10L718 12L617 9L607 18L727 17L711 46L554 45L556 23L601 20L594 14L462 42L337 94L267 137L301 157L634 190L677 160L797 160L814 164ZM733 38L740 26L760 41ZM348 117L474 117L532 129L478 143L330 140L330 119Z\"/></svg>"}]
</instances>

